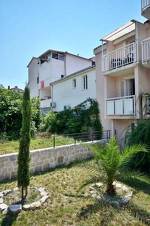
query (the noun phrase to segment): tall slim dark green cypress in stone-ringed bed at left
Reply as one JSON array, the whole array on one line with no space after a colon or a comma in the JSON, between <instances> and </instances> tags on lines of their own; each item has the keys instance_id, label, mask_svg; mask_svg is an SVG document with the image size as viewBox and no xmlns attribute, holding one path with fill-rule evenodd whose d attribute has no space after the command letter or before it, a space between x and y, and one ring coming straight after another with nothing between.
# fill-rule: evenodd
<instances>
[{"instance_id":1,"label":"tall slim dark green cypress in stone-ringed bed at left","mask_svg":"<svg viewBox=\"0 0 150 226\"><path fill-rule=\"evenodd\" d=\"M30 127L31 127L31 103L30 91L25 87L22 103L22 128L20 134L20 146L18 155L18 187L21 188L22 202L27 197L30 183L29 161L30 161Z\"/></svg>"}]
</instances>

